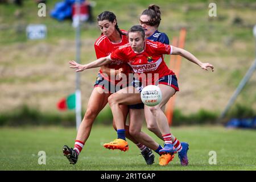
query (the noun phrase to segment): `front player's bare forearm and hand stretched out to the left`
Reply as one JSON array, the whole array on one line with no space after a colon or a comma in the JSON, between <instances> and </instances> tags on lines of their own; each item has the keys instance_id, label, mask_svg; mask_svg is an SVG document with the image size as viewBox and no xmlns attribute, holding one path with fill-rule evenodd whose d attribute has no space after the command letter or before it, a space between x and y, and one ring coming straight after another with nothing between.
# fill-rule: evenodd
<instances>
[{"instance_id":1,"label":"front player's bare forearm and hand stretched out to the left","mask_svg":"<svg viewBox=\"0 0 256 182\"><path fill-rule=\"evenodd\" d=\"M85 69L90 69L90 68L97 68L101 67L102 65L106 65L110 63L109 57L101 57L100 59L97 59L95 61L90 62L89 64L78 64L76 61L68 61L70 66L69 68L76 68L76 72L82 72Z\"/></svg>"}]
</instances>

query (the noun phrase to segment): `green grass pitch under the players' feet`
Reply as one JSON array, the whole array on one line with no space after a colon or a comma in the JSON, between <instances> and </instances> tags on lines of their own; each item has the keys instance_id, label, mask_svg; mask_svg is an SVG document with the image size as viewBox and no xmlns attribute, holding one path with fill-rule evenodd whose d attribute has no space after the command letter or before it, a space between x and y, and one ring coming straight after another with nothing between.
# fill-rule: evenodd
<instances>
[{"instance_id":1,"label":"green grass pitch under the players' feet","mask_svg":"<svg viewBox=\"0 0 256 182\"><path fill-rule=\"evenodd\" d=\"M161 167L158 155L155 164L147 166L131 142L127 152L102 147L116 133L110 126L94 126L79 162L69 165L62 155L64 144L73 146L76 130L63 127L0 128L0 170L256 170L255 138L253 130L227 130L216 126L174 127L172 133L189 142L189 166L181 167L177 155L168 166ZM154 135L146 131L153 138ZM157 142L163 143L159 139ZM38 164L38 152L46 152L46 165ZM208 155L216 151L217 164L210 165Z\"/></svg>"}]
</instances>

